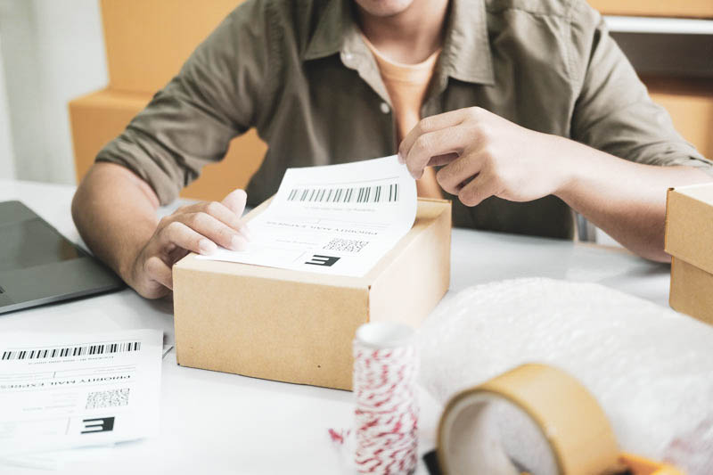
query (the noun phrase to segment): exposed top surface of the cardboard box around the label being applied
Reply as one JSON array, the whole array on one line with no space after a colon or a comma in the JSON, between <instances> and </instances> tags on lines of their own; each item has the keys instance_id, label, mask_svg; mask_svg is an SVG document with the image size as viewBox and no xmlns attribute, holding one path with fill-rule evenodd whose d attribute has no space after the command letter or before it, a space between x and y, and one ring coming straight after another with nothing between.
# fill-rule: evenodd
<instances>
[{"instance_id":1,"label":"exposed top surface of the cardboard box around the label being applied","mask_svg":"<svg viewBox=\"0 0 713 475\"><path fill-rule=\"evenodd\" d=\"M245 219L250 221L258 216L272 199L261 203L257 208L252 209ZM179 269L190 269L199 272L209 272L217 274L248 275L258 279L271 279L300 283L316 283L332 287L363 288L369 289L380 274L394 261L398 253L405 249L423 229L433 225L435 220L444 212L450 214L451 202L447 200L432 200L419 198L416 218L411 230L397 242L397 244L376 263L372 269L362 277L350 277L347 275L317 274L312 272L296 271L291 269L281 269L276 267L254 266L251 264L241 264L235 262L225 262L217 260L207 260L196 258L196 254L189 254L176 263L174 267Z\"/></svg>"}]
</instances>

